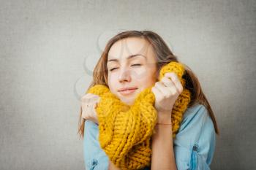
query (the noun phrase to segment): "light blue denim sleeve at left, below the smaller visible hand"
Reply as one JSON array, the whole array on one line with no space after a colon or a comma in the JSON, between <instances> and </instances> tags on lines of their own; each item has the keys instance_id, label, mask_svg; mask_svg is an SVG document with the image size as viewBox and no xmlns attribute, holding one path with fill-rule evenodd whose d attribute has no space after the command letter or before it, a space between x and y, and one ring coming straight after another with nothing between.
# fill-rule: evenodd
<instances>
[{"instance_id":1,"label":"light blue denim sleeve at left, below the smaller visible hand","mask_svg":"<svg viewBox=\"0 0 256 170\"><path fill-rule=\"evenodd\" d=\"M86 120L83 136L83 157L86 170L108 170L108 155L99 145L99 128Z\"/></svg>"}]
</instances>

